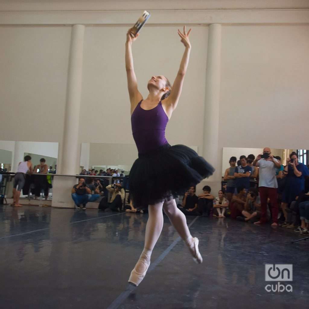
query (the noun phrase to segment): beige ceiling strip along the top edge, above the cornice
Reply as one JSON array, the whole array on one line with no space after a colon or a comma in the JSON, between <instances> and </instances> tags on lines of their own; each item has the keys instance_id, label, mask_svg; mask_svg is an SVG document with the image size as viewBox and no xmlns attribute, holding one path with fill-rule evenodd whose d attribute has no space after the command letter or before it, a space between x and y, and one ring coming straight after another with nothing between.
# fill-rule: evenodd
<instances>
[{"instance_id":1,"label":"beige ceiling strip along the top edge, above the cornice","mask_svg":"<svg viewBox=\"0 0 309 309\"><path fill-rule=\"evenodd\" d=\"M309 0L0 0L0 11L309 9Z\"/></svg>"}]
</instances>

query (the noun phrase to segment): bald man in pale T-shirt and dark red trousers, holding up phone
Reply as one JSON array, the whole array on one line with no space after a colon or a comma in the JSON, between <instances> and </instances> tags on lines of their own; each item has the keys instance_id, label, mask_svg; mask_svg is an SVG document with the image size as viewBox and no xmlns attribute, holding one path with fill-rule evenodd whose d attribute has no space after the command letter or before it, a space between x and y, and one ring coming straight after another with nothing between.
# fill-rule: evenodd
<instances>
[{"instance_id":1,"label":"bald man in pale T-shirt and dark red trousers, holding up phone","mask_svg":"<svg viewBox=\"0 0 309 309\"><path fill-rule=\"evenodd\" d=\"M261 218L254 224L265 223L267 220L267 199L269 198L272 209L272 226L277 226L278 222L278 204L277 204L277 178L276 167L280 168L281 163L271 155L268 147L263 149L263 154L258 155L253 161L253 166L259 167L259 192L261 199Z\"/></svg>"}]
</instances>

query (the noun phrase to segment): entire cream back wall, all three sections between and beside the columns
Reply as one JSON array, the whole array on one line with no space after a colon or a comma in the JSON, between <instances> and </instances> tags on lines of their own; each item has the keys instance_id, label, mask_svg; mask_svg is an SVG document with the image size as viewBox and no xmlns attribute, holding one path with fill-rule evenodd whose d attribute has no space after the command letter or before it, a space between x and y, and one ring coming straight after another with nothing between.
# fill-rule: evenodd
<instances>
[{"instance_id":1,"label":"entire cream back wall, all three sections between and beside the columns","mask_svg":"<svg viewBox=\"0 0 309 309\"><path fill-rule=\"evenodd\" d=\"M136 12L132 14L135 20ZM142 94L152 74L173 81L183 47L178 26L146 26L133 45ZM87 26L80 142L133 144L124 50L127 26ZM62 141L70 28L0 27L2 139ZM223 147L308 148L309 26L223 25L218 162ZM108 38L108 40L106 39ZM207 26L194 26L171 144L202 149ZM297 124L302 129L295 129ZM207 159L207 158L206 158ZM95 163L97 164L97 163ZM216 167L221 170L221 163Z\"/></svg>"}]
</instances>

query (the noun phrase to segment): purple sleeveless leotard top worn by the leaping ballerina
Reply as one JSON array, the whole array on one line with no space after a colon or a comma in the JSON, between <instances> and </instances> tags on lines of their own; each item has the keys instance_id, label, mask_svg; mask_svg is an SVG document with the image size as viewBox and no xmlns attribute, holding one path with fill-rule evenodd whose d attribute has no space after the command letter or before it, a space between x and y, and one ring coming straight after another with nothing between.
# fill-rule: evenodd
<instances>
[{"instance_id":1,"label":"purple sleeveless leotard top worn by the leaping ballerina","mask_svg":"<svg viewBox=\"0 0 309 309\"><path fill-rule=\"evenodd\" d=\"M146 154L168 144L165 128L168 117L161 101L150 110L141 108L140 101L131 116L132 133L139 154Z\"/></svg>"}]
</instances>

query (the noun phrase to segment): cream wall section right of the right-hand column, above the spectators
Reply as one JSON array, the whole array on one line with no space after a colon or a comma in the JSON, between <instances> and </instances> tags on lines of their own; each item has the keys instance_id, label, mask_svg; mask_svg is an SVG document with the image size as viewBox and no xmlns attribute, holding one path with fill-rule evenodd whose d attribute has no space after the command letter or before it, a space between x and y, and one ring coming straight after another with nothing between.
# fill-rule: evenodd
<instances>
[{"instance_id":1,"label":"cream wall section right of the right-hand column, above the spectators","mask_svg":"<svg viewBox=\"0 0 309 309\"><path fill-rule=\"evenodd\" d=\"M308 25L222 27L219 155L308 148L308 37Z\"/></svg>"}]
</instances>

